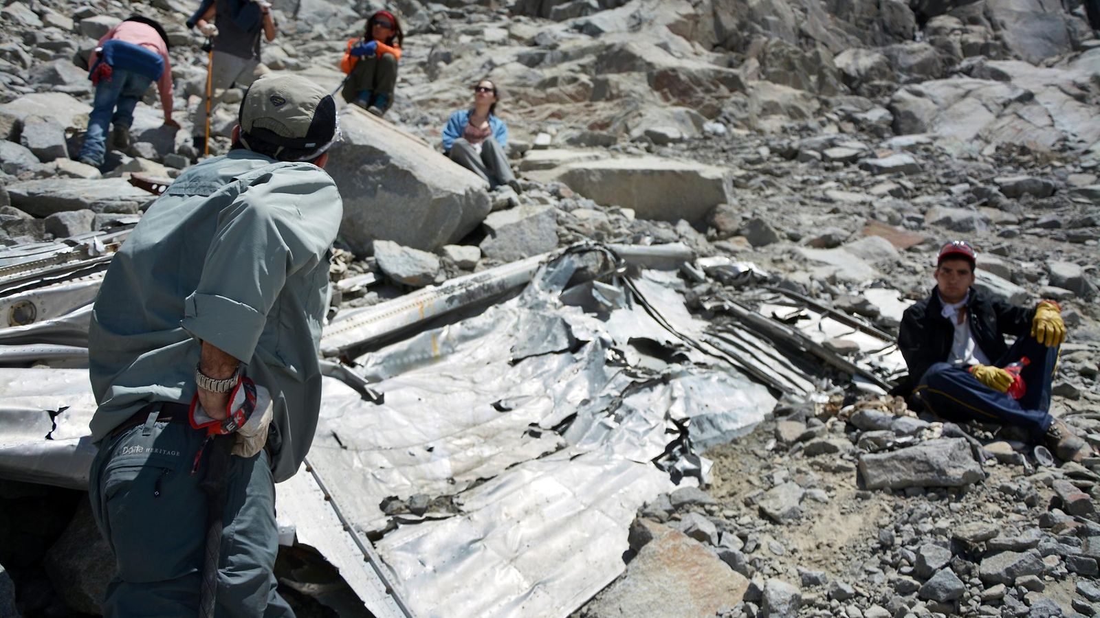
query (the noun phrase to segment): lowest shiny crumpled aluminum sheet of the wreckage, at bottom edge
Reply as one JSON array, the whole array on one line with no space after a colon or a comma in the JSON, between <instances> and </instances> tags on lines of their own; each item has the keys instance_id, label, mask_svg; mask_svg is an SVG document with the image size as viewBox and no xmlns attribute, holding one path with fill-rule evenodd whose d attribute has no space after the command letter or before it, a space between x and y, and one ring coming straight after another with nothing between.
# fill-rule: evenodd
<instances>
[{"instance_id":1,"label":"lowest shiny crumpled aluminum sheet of the wreckage, at bottom edge","mask_svg":"<svg viewBox=\"0 0 1100 618\"><path fill-rule=\"evenodd\" d=\"M417 616L569 616L623 572L638 508L673 488L613 449L558 453L466 492L461 517L376 544Z\"/></svg>"}]
</instances>

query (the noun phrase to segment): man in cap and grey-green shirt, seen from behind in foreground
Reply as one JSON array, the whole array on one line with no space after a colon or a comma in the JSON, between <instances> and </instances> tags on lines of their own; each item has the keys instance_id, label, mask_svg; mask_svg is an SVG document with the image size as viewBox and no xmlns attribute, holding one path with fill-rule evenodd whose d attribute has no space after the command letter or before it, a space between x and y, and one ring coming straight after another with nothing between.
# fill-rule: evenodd
<instances>
[{"instance_id":1,"label":"man in cap and grey-green shirt, seen from behind in foreground","mask_svg":"<svg viewBox=\"0 0 1100 618\"><path fill-rule=\"evenodd\" d=\"M118 563L105 616L293 616L272 573L273 483L317 427L337 108L268 76L239 122L229 154L142 217L96 299L89 493Z\"/></svg>"}]
</instances>

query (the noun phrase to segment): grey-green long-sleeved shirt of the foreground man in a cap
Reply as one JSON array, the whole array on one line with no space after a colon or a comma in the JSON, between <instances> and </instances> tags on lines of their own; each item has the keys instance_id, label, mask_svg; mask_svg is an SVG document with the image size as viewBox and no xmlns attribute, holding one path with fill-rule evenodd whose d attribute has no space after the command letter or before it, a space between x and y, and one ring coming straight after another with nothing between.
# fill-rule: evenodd
<instances>
[{"instance_id":1,"label":"grey-green long-sleeved shirt of the foreground man in a cap","mask_svg":"<svg viewBox=\"0 0 1100 618\"><path fill-rule=\"evenodd\" d=\"M332 178L309 163L237 150L182 174L111 261L96 298L92 439L148 402L189 404L207 341L271 391L272 470L276 482L294 475L320 409L328 253L342 213Z\"/></svg>"}]
</instances>

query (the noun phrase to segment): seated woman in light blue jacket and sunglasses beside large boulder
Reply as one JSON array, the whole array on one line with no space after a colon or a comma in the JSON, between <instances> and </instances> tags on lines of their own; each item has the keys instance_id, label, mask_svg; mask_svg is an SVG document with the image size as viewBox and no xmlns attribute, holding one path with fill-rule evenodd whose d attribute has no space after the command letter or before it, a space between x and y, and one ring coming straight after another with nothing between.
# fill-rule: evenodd
<instances>
[{"instance_id":1,"label":"seated woman in light blue jacket and sunglasses beside large boulder","mask_svg":"<svg viewBox=\"0 0 1100 618\"><path fill-rule=\"evenodd\" d=\"M474 86L474 107L451 114L443 128L443 151L451 161L488 181L490 188L508 185L519 192L519 181L504 155L508 126L494 115L499 96L496 85L482 79Z\"/></svg>"}]
</instances>

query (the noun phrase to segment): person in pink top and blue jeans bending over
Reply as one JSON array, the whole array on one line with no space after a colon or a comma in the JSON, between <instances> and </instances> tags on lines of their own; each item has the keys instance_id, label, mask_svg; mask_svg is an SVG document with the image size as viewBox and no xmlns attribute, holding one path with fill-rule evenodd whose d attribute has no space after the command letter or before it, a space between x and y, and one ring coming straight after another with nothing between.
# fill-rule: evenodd
<instances>
[{"instance_id":1,"label":"person in pink top and blue jeans bending over","mask_svg":"<svg viewBox=\"0 0 1100 618\"><path fill-rule=\"evenodd\" d=\"M109 124L114 125L114 147L130 145L134 108L154 81L161 92L164 124L179 128L172 119L168 35L157 22L132 15L109 30L88 59L88 78L96 85L96 97L77 156L80 163L96 167L103 164Z\"/></svg>"}]
</instances>

